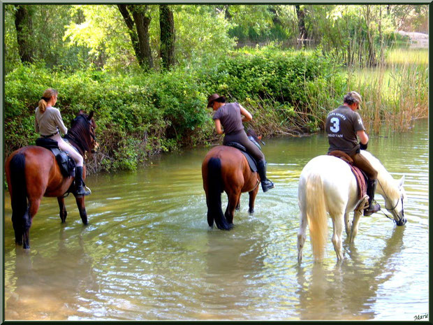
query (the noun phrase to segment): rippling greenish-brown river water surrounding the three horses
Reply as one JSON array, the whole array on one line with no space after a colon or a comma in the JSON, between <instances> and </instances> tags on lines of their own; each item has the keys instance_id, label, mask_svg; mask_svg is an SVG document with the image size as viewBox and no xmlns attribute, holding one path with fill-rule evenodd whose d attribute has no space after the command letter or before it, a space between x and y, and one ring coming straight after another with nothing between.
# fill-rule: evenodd
<instances>
[{"instance_id":1,"label":"rippling greenish-brown river water surrounding the three horses","mask_svg":"<svg viewBox=\"0 0 433 325\"><path fill-rule=\"evenodd\" d=\"M73 197L61 224L43 198L31 250L15 247L5 194L5 317L59 320L413 320L428 313L428 124L372 136L369 150L394 178L405 175L408 222L364 217L354 245L323 265L309 238L297 263L298 178L326 152L322 134L272 138L263 147L276 188L241 198L232 231L206 221L201 161L209 148L168 154L133 173L87 180L89 225ZM383 199L378 196L379 203ZM223 196L223 205L226 205ZM331 225L331 224L330 224ZM332 229L332 226L331 226ZM345 235L344 235L345 236Z\"/></svg>"}]
</instances>

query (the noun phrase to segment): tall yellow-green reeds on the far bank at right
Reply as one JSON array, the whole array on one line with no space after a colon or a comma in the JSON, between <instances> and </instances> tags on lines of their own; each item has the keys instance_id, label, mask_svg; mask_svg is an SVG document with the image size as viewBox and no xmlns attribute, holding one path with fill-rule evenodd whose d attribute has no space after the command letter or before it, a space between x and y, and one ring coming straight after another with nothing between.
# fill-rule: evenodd
<instances>
[{"instance_id":1,"label":"tall yellow-green reeds on the far bank at right","mask_svg":"<svg viewBox=\"0 0 433 325\"><path fill-rule=\"evenodd\" d=\"M363 97L360 114L367 131L405 131L413 120L428 117L427 63L427 50L391 50L374 70L348 71L348 89Z\"/></svg>"}]
</instances>

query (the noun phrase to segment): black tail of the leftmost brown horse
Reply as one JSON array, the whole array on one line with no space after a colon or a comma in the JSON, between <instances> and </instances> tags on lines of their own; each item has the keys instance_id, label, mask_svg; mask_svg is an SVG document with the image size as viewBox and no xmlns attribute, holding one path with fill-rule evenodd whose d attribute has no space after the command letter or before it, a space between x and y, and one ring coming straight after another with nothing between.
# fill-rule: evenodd
<instances>
[{"instance_id":1,"label":"black tail of the leftmost brown horse","mask_svg":"<svg viewBox=\"0 0 433 325\"><path fill-rule=\"evenodd\" d=\"M18 153L10 159L10 196L12 197L12 223L15 230L15 241L22 245L24 229L31 224L27 203L26 178L24 174L25 157ZM29 224L30 223L30 224Z\"/></svg>"}]
</instances>

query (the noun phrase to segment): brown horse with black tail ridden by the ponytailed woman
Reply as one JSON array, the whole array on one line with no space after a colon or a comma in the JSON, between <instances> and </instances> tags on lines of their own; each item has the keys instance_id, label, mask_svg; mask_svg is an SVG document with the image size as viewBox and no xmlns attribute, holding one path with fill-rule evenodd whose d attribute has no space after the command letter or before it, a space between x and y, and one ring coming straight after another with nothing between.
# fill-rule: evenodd
<instances>
[{"instance_id":1,"label":"brown horse with black tail ridden by the ponytailed woman","mask_svg":"<svg viewBox=\"0 0 433 325\"><path fill-rule=\"evenodd\" d=\"M66 134L66 140L85 157L86 152L94 152L98 147L95 137L96 123L94 112L86 115L82 110L72 122ZM15 231L15 243L29 249L29 230L31 222L38 212L43 196L57 197L60 219L66 222L64 195L73 185L73 177L64 177L54 154L45 147L29 145L15 150L5 162L6 180L12 206L12 223ZM86 169L83 166L83 180ZM82 223L87 225L87 212L84 196L75 196Z\"/></svg>"}]
</instances>

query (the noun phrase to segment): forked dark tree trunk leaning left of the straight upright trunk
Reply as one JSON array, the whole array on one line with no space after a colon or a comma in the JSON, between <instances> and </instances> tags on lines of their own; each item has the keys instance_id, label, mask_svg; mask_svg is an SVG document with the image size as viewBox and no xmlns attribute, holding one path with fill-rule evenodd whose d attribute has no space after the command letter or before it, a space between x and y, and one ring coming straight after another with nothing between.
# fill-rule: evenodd
<instances>
[{"instance_id":1,"label":"forked dark tree trunk leaning left of the straight upright trunk","mask_svg":"<svg viewBox=\"0 0 433 325\"><path fill-rule=\"evenodd\" d=\"M147 15L147 5L118 4L120 13L124 17L126 27L129 29L129 36L135 52L138 64L145 71L154 67L152 50L149 42L149 25L152 17ZM132 17L131 17L132 15Z\"/></svg>"}]
</instances>

